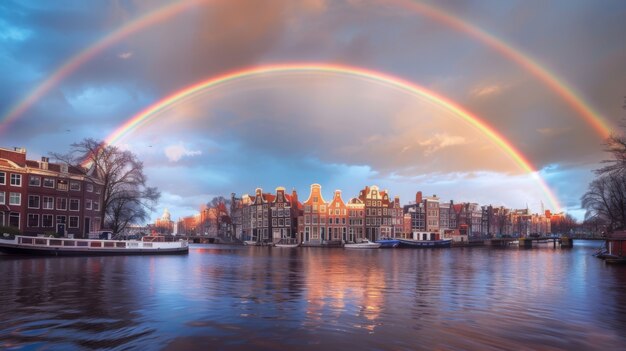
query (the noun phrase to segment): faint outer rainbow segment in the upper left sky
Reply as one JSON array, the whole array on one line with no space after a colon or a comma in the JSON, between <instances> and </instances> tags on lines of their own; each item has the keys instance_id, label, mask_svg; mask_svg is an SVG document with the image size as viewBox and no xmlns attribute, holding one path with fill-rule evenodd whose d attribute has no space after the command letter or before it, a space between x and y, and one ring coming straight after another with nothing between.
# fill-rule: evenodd
<instances>
[{"instance_id":1,"label":"faint outer rainbow segment in the upper left sky","mask_svg":"<svg viewBox=\"0 0 626 351\"><path fill-rule=\"evenodd\" d=\"M146 27L163 22L183 11L189 10L201 2L207 0L185 0L174 2L169 5L159 7L153 11L139 16L131 22L125 24L121 28L109 33L102 39L98 40L88 48L74 55L65 62L46 80L41 82L37 87L31 90L25 98L14 105L4 116L0 117L0 133L19 118L26 110L35 104L42 96L50 91L54 86L58 85L63 79L72 74L76 69L85 64L85 62L94 58L97 54L104 51L111 45L138 32Z\"/></svg>"}]
</instances>

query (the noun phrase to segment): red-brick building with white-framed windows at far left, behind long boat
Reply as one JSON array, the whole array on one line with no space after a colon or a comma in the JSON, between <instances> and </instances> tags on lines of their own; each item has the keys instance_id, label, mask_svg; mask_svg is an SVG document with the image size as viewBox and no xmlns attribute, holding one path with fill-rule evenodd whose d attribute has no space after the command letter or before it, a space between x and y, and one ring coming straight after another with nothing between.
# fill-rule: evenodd
<instances>
[{"instance_id":1,"label":"red-brick building with white-framed windows at far left, behind long boat","mask_svg":"<svg viewBox=\"0 0 626 351\"><path fill-rule=\"evenodd\" d=\"M102 226L100 184L84 170L27 160L26 150L0 148L0 225L26 235L85 237Z\"/></svg>"}]
</instances>

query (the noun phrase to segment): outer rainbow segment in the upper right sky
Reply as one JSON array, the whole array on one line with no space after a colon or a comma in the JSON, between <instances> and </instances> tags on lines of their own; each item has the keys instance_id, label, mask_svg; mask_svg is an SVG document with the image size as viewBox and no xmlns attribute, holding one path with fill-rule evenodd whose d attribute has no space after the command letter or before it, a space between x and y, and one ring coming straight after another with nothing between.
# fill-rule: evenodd
<instances>
[{"instance_id":1,"label":"outer rainbow segment in the upper right sky","mask_svg":"<svg viewBox=\"0 0 626 351\"><path fill-rule=\"evenodd\" d=\"M496 36L485 32L479 27L465 21L455 15L452 15L444 10L428 5L422 2L415 2L410 0L392 0L396 3L405 6L408 9L414 10L422 15L425 15L441 24L454 28L457 31L463 32L483 44L493 48L505 58L517 63L523 67L526 71L530 72L535 78L545 83L552 91L565 100L570 107L576 111L583 119L593 127L593 129L604 139L609 137L612 133L611 125L602 117L600 113L595 111L585 100L574 91L563 79L559 78L556 74L550 72L545 67L541 66L537 60L534 60L529 55L525 54L521 50L515 48L513 45L507 44L503 40Z\"/></svg>"}]
</instances>

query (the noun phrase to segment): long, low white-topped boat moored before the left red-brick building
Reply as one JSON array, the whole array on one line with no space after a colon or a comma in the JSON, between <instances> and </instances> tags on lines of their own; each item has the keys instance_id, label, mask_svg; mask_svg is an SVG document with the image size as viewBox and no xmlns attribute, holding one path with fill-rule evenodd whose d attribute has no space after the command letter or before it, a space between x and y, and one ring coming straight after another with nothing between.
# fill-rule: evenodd
<instances>
[{"instance_id":1,"label":"long, low white-topped boat moored before the left red-brick building","mask_svg":"<svg viewBox=\"0 0 626 351\"><path fill-rule=\"evenodd\" d=\"M189 253L189 244L187 240L166 242L162 236L146 236L138 241L16 235L0 238L0 252L41 256L169 255Z\"/></svg>"}]
</instances>

